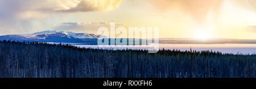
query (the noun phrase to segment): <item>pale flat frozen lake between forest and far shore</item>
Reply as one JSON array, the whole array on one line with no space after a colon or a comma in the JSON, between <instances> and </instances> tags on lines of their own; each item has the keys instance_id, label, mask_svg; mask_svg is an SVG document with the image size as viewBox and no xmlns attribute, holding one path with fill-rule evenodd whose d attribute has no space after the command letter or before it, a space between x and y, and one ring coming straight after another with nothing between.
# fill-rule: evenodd
<instances>
[{"instance_id":1,"label":"pale flat frozen lake between forest and far shore","mask_svg":"<svg viewBox=\"0 0 256 89\"><path fill-rule=\"evenodd\" d=\"M77 47L85 48L100 48L100 49L113 49L113 50L122 50L122 49L132 49L132 50L147 50L151 47L143 46L97 46L97 45L74 45ZM212 50L219 51L222 53L228 54L255 54L256 53L256 44L234 44L234 43L225 43L225 44L169 44L169 43L160 43L159 49L169 49L169 50L192 50L203 51L203 50Z\"/></svg>"}]
</instances>

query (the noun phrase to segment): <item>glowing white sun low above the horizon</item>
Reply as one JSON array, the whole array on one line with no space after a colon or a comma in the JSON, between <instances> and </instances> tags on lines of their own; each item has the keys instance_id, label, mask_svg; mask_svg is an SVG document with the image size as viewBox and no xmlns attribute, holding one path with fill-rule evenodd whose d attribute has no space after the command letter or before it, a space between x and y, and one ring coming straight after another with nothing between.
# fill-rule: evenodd
<instances>
[{"instance_id":1,"label":"glowing white sun low above the horizon","mask_svg":"<svg viewBox=\"0 0 256 89\"><path fill-rule=\"evenodd\" d=\"M210 34L206 29L195 30L194 37L197 39L209 39Z\"/></svg>"}]
</instances>

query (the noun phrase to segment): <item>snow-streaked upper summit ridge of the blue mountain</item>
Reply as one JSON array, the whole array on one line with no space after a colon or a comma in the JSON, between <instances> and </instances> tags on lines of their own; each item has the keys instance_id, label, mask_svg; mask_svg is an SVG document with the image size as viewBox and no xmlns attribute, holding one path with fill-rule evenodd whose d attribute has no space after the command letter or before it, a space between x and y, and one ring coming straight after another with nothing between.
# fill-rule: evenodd
<instances>
[{"instance_id":1,"label":"snow-streaked upper summit ridge of the blue mountain","mask_svg":"<svg viewBox=\"0 0 256 89\"><path fill-rule=\"evenodd\" d=\"M35 34L39 34L39 33L63 33L65 35L71 36L71 37L75 37L75 38L98 38L100 37L100 35L95 35L95 34L88 34L88 33L73 33L73 32L58 32L56 30L46 30L43 32L36 32Z\"/></svg>"}]
</instances>

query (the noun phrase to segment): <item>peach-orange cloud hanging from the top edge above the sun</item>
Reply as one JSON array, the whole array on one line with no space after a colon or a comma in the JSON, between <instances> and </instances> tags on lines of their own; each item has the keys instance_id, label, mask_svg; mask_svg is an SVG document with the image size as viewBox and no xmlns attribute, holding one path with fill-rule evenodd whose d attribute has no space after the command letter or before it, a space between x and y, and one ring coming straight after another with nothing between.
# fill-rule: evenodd
<instances>
[{"instance_id":1,"label":"peach-orange cloud hanging from the top edge above the sun","mask_svg":"<svg viewBox=\"0 0 256 89\"><path fill-rule=\"evenodd\" d=\"M151 5L159 11L168 11L178 8L180 11L191 15L198 23L205 23L209 10L217 12L221 0L149 0Z\"/></svg>"}]
</instances>

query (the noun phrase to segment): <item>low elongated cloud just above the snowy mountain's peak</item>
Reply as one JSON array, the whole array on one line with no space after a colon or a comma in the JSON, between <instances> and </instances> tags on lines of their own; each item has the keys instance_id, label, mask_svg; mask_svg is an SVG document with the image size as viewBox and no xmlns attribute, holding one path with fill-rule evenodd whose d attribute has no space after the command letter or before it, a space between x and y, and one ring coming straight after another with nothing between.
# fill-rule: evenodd
<instances>
[{"instance_id":1,"label":"low elongated cloud just above the snowy mountain's peak","mask_svg":"<svg viewBox=\"0 0 256 89\"><path fill-rule=\"evenodd\" d=\"M109 22L98 22L98 23L60 23L57 24L53 29L58 31L71 31L71 32L87 32L87 33L97 33L98 28L106 27L110 29ZM115 23L115 27L127 27L123 24Z\"/></svg>"}]
</instances>

